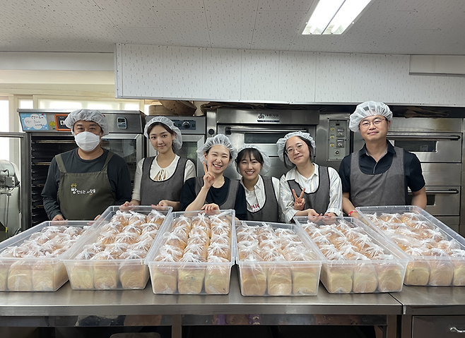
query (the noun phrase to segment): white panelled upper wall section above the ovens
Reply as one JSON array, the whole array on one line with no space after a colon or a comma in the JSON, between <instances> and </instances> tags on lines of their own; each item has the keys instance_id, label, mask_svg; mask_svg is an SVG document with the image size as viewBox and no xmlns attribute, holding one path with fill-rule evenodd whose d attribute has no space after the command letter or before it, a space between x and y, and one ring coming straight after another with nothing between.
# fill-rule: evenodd
<instances>
[{"instance_id":1,"label":"white panelled upper wall section above the ovens","mask_svg":"<svg viewBox=\"0 0 465 338\"><path fill-rule=\"evenodd\" d=\"M465 79L411 76L408 55L117 44L117 97L465 106Z\"/></svg>"}]
</instances>

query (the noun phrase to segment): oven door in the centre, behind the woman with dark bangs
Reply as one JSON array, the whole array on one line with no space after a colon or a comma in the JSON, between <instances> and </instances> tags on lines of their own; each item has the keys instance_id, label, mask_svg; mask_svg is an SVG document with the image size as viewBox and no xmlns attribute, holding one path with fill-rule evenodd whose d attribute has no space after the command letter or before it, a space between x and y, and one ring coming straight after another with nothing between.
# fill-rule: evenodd
<instances>
[{"instance_id":1,"label":"oven door in the centre, behind the woman with dark bangs","mask_svg":"<svg viewBox=\"0 0 465 338\"><path fill-rule=\"evenodd\" d=\"M225 134L230 139L232 145L237 149L245 144L257 145L270 157L271 168L266 176L274 176L278 179L283 174L286 174L288 169L284 166L284 163L278 157L278 147L276 141L279 138L283 138L286 134L293 131L303 131L310 133L312 138L315 139L317 131L316 126L225 126L218 125L218 134ZM240 174L237 173L235 164L231 164L228 169L225 170L225 176L230 179L240 179Z\"/></svg>"}]
</instances>

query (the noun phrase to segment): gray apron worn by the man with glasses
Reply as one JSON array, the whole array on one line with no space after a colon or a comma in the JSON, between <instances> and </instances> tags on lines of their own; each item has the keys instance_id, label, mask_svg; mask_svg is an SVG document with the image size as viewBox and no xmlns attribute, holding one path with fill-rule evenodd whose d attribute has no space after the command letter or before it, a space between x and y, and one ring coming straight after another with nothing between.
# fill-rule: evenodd
<instances>
[{"instance_id":1,"label":"gray apron worn by the man with glasses","mask_svg":"<svg viewBox=\"0 0 465 338\"><path fill-rule=\"evenodd\" d=\"M364 174L359 152L351 156L351 202L355 207L406 205L404 149L394 147L394 158L382 174Z\"/></svg>"}]
</instances>

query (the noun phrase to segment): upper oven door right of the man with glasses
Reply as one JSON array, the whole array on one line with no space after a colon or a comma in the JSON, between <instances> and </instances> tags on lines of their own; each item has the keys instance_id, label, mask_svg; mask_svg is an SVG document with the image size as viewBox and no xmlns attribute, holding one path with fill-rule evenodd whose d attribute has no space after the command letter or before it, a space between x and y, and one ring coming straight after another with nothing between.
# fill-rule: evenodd
<instances>
[{"instance_id":1,"label":"upper oven door right of the man with glasses","mask_svg":"<svg viewBox=\"0 0 465 338\"><path fill-rule=\"evenodd\" d=\"M461 133L389 132L392 145L413 152L420 162L461 162Z\"/></svg>"}]
</instances>

